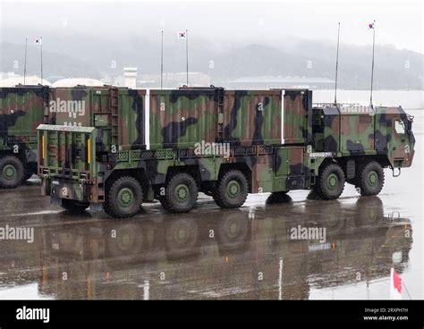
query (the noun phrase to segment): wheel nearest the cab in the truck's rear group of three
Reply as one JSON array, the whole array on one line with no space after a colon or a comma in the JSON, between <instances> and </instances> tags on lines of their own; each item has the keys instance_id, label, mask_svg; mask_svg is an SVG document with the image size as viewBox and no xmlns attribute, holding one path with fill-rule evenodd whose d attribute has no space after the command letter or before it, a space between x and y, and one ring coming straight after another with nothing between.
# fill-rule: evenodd
<instances>
[{"instance_id":1,"label":"wheel nearest the cab in the truck's rear group of three","mask_svg":"<svg viewBox=\"0 0 424 329\"><path fill-rule=\"evenodd\" d=\"M222 208L242 207L248 195L249 183L240 170L226 172L216 182L214 200Z\"/></svg>"}]
</instances>

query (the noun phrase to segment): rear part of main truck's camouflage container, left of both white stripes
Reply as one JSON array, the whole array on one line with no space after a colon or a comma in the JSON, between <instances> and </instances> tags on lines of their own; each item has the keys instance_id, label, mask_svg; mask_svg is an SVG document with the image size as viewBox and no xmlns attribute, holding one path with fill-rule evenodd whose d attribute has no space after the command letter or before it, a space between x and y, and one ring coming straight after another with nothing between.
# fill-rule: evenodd
<instances>
[{"instance_id":1,"label":"rear part of main truck's camouflage container, left of both white stripes","mask_svg":"<svg viewBox=\"0 0 424 329\"><path fill-rule=\"evenodd\" d=\"M98 128L97 143L103 151L145 148L145 90L115 87L52 89L49 123Z\"/></svg>"}]
</instances>

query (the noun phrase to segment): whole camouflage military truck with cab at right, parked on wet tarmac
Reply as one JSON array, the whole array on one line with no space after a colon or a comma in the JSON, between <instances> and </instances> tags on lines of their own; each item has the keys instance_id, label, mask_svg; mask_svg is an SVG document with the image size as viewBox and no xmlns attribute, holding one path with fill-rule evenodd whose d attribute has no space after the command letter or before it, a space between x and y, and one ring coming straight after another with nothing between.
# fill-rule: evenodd
<instances>
[{"instance_id":1,"label":"whole camouflage military truck with cab at right, parked on wet tarmac","mask_svg":"<svg viewBox=\"0 0 424 329\"><path fill-rule=\"evenodd\" d=\"M56 93L56 124L38 127L38 174L43 194L72 211L128 217L158 199L181 213L199 191L224 208L248 193L313 189L333 199L346 181L376 195L383 169L408 167L414 154L401 107L313 107L307 89ZM74 101L78 111L61 105Z\"/></svg>"}]
</instances>

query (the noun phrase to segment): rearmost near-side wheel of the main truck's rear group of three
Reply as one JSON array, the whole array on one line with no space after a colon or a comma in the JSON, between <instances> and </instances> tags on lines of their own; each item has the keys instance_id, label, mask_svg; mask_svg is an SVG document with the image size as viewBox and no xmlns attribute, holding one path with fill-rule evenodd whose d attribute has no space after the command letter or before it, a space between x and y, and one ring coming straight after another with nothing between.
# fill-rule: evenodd
<instances>
[{"instance_id":1,"label":"rearmost near-side wheel of the main truck's rear group of three","mask_svg":"<svg viewBox=\"0 0 424 329\"><path fill-rule=\"evenodd\" d=\"M131 176L112 181L106 191L103 209L107 215L117 218L137 215L143 202L143 190L140 182Z\"/></svg>"}]
</instances>

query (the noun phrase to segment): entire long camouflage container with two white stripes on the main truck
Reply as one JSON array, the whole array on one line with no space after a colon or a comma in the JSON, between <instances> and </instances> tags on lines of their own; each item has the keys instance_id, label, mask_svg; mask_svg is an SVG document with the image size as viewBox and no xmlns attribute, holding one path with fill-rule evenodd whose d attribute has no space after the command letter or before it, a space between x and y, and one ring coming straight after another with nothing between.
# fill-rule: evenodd
<instances>
[{"instance_id":1,"label":"entire long camouflage container with two white stripes on the main truck","mask_svg":"<svg viewBox=\"0 0 424 329\"><path fill-rule=\"evenodd\" d=\"M104 150L301 144L310 103L307 90L77 86L51 90L48 122L98 128Z\"/></svg>"}]
</instances>

